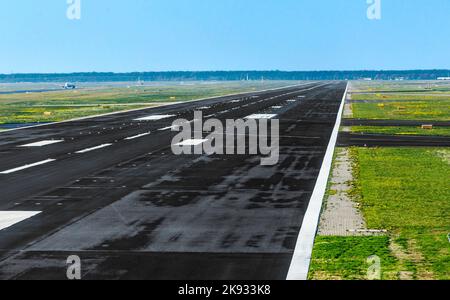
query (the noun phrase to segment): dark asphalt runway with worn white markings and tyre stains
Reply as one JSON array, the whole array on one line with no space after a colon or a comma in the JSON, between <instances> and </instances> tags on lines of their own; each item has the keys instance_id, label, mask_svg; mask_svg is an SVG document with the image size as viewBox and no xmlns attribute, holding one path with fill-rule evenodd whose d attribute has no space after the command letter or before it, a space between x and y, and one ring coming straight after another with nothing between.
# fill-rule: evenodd
<instances>
[{"instance_id":1,"label":"dark asphalt runway with worn white markings and tyre stains","mask_svg":"<svg viewBox=\"0 0 450 300\"><path fill-rule=\"evenodd\" d=\"M70 255L83 279L286 279L345 88L313 82L0 133L0 219L37 213L0 230L0 279L65 279ZM198 110L276 115L279 163L174 155L169 127Z\"/></svg>"}]
</instances>

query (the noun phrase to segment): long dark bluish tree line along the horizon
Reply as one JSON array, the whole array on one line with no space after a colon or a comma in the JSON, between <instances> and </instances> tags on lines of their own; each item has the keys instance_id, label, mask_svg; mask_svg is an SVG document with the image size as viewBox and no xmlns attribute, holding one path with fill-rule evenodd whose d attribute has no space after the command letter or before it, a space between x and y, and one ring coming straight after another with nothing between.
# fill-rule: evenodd
<instances>
[{"instance_id":1,"label":"long dark bluish tree line along the horizon","mask_svg":"<svg viewBox=\"0 0 450 300\"><path fill-rule=\"evenodd\" d=\"M120 81L237 81L237 80L436 80L450 70L408 71L171 71L134 73L0 74L1 83L120 82Z\"/></svg>"}]
</instances>

